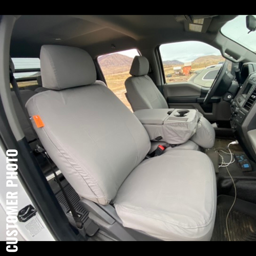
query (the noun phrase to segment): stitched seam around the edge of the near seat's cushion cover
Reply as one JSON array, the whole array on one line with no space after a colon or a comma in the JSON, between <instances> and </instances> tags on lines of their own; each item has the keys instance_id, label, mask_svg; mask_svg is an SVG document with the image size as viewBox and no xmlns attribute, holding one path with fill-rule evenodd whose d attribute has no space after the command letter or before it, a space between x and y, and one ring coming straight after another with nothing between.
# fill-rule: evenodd
<instances>
[{"instance_id":1,"label":"stitched seam around the edge of the near seat's cushion cover","mask_svg":"<svg viewBox=\"0 0 256 256\"><path fill-rule=\"evenodd\" d=\"M170 152L173 153L173 151L170 151ZM198 153L199 153L199 152L198 152ZM164 157L164 155L162 155L161 157ZM167 156L165 156L165 157L167 157ZM209 165L210 165L210 168L211 168L211 180L212 180L213 169L212 169L211 162L210 162L210 160L209 160L208 157L207 157L207 161L209 162ZM211 186L211 196L212 196L212 198L214 198L214 187L213 187L213 186ZM119 207L121 207L121 208L123 208L123 209L126 209L127 212L132 212L132 213L135 214L135 215L140 215L140 216L144 216L144 217L147 217L147 218L152 218L152 219L155 219L155 220L159 220L159 221L162 221L162 222L165 222L165 223L168 223L168 224L171 224L171 225L175 225L175 226L178 226L178 227L186 228L186 229L195 229L195 228L207 227L207 226L211 223L211 221L212 221L212 219L213 219L213 217L214 217L214 209L211 208L210 219L209 219L204 225L198 225L198 226L189 226L189 225L185 225L185 226L184 226L184 225L183 225L183 226L182 226L182 225L179 225L179 224L176 224L176 223L173 223L173 222L165 221L165 220L163 220L163 219L161 219L161 218L155 218L155 217L152 217L152 216L149 216L149 215L146 215L146 214L140 214L139 212L133 211L133 210L131 210L131 209L128 209L127 206L125 207L125 206L122 206L122 205L120 205L120 204L118 204L118 203L117 203L116 205L118 205ZM133 207L136 207L136 206L133 206Z\"/></svg>"}]
</instances>

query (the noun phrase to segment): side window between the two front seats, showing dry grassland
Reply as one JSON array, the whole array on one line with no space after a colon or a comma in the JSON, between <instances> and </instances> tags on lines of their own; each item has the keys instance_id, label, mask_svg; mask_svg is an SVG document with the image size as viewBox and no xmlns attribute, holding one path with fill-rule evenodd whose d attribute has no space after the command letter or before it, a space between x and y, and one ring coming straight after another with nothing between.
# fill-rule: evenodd
<instances>
[{"instance_id":1,"label":"side window between the two front seats, showing dry grassland","mask_svg":"<svg viewBox=\"0 0 256 256\"><path fill-rule=\"evenodd\" d=\"M98 57L98 62L106 84L110 90L132 111L131 105L126 99L125 80L129 74L132 62L139 53L136 49L106 54Z\"/></svg>"}]
</instances>

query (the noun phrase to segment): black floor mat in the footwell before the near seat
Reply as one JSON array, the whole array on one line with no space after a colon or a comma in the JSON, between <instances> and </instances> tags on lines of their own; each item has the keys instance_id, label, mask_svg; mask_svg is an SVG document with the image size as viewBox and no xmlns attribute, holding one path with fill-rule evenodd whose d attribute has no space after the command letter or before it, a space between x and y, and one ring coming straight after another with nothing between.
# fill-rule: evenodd
<instances>
[{"instance_id":1,"label":"black floor mat in the footwell before the near seat","mask_svg":"<svg viewBox=\"0 0 256 256\"><path fill-rule=\"evenodd\" d=\"M215 228L211 241L228 241L226 217L234 198L219 196ZM231 241L256 241L256 205L237 199L228 217Z\"/></svg>"}]
</instances>

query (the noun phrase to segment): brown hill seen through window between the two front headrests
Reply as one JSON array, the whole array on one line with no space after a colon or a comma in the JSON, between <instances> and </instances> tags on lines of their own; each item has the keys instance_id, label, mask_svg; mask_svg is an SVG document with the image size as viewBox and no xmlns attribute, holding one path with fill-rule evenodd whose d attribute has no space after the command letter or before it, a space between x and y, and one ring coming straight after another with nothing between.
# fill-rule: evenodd
<instances>
[{"instance_id":1,"label":"brown hill seen through window between the two front headrests","mask_svg":"<svg viewBox=\"0 0 256 256\"><path fill-rule=\"evenodd\" d=\"M100 67L120 67L132 65L133 58L119 54L108 54L98 59Z\"/></svg>"}]
</instances>

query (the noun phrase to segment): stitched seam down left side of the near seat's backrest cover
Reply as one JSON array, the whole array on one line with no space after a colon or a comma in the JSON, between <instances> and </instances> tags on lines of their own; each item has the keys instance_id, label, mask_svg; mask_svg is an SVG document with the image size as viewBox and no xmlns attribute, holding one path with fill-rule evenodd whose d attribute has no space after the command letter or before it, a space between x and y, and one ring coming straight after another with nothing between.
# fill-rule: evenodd
<instances>
[{"instance_id":1,"label":"stitched seam down left side of the near seat's backrest cover","mask_svg":"<svg viewBox=\"0 0 256 256\"><path fill-rule=\"evenodd\" d=\"M36 95L35 95L35 96L36 96ZM39 114L40 112L39 112L39 110L38 110L38 108L37 108L37 105L36 105L36 102L35 102L35 97L33 97L33 102L34 102L35 108L36 108L36 110L37 110L37 112L38 112L38 114ZM46 130L54 137L54 139L57 141L57 143L59 144L59 146L62 147L64 151L66 150L66 152L71 156L71 158L73 158L73 161L74 161L74 162L78 162L78 163L79 163L79 161L77 161L76 158L74 158L73 155L70 154L70 152L69 152L65 147L63 147L63 145L61 145L61 144L59 143L59 141L56 139L56 137L52 134L52 132L51 132L49 129L46 129L46 127L42 128L42 129L44 129L43 131L45 132L45 134L47 135L47 137L48 137L48 139L51 141L51 143L54 145L54 147L56 148L56 150L59 152L59 154L62 155L62 157L66 159L66 161L70 164L70 166L78 173L78 175L81 177L81 179L82 179L82 180L87 184L87 186L90 188L90 190L92 191L93 195L95 195L94 191L93 191L92 188L89 186L89 184L87 183L87 181L83 179L83 177L81 176L81 174L79 173L79 171L78 171L78 170L69 162L69 160L68 160L65 156L63 156L63 154L59 151L59 149L56 147L56 145L53 143L53 141L52 141L52 140L50 139L50 137L48 136ZM78 164L78 165L79 165L79 164ZM79 165L79 166L80 166L80 165ZM80 168L81 168L81 166L80 166ZM83 169L83 168L81 168L81 170L82 170L82 169ZM85 169L86 169L86 168L85 168ZM95 179L90 175L90 173L87 171L86 174L95 182L95 184L100 188L102 194L105 196L105 193L103 193L102 188L101 188L101 187L99 186L99 184L95 181ZM102 197L98 197L98 196L96 196L96 195L95 195L95 197L96 197L97 199L102 198ZM105 199L107 202L110 202L110 201L111 201L111 200L107 199L106 196L105 196L104 199Z\"/></svg>"}]
</instances>

